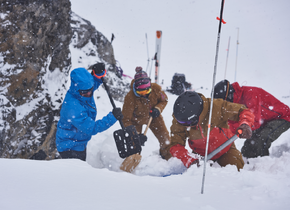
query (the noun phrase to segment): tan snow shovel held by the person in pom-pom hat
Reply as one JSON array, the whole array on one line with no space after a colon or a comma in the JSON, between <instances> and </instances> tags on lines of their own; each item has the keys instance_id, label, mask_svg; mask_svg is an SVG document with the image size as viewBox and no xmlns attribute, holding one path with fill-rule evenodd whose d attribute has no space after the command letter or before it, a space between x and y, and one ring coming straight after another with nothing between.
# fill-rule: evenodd
<instances>
[{"instance_id":1,"label":"tan snow shovel held by the person in pom-pom hat","mask_svg":"<svg viewBox=\"0 0 290 210\"><path fill-rule=\"evenodd\" d=\"M145 136L146 136L148 128L149 128L149 126L151 124L152 119L153 119L152 117L149 118L149 122L148 122L148 124L146 126L146 129L145 129L144 133L143 133ZM134 169L139 165L139 163L141 161L141 158L142 158L142 156L139 153L133 154L133 155L127 157L123 161L122 165L120 166L120 169L122 171L126 171L128 173L132 173L134 171Z\"/></svg>"}]
</instances>

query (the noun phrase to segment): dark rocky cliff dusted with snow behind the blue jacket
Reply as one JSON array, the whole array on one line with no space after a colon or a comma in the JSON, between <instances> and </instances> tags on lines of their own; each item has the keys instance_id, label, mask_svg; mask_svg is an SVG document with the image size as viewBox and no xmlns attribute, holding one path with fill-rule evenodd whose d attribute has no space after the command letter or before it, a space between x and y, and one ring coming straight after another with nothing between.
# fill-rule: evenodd
<instances>
[{"instance_id":1,"label":"dark rocky cliff dusted with snow behind the blue jacket","mask_svg":"<svg viewBox=\"0 0 290 210\"><path fill-rule=\"evenodd\" d=\"M128 83L115 76L111 43L71 12L69 0L1 1L0 8L0 157L57 158L56 123L72 68L70 47L106 63L115 99L123 100Z\"/></svg>"}]
</instances>

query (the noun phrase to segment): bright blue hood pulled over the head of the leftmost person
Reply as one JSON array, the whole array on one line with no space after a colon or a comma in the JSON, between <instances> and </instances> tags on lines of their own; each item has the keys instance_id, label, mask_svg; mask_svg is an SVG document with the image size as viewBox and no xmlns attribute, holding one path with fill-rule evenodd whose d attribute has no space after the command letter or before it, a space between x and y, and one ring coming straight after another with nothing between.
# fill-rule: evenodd
<instances>
[{"instance_id":1,"label":"bright blue hood pulled over the head of the leftmost person","mask_svg":"<svg viewBox=\"0 0 290 210\"><path fill-rule=\"evenodd\" d=\"M85 68L74 69L71 74L69 91L73 95L79 95L79 90L87 90L94 86L93 76Z\"/></svg>"}]
</instances>

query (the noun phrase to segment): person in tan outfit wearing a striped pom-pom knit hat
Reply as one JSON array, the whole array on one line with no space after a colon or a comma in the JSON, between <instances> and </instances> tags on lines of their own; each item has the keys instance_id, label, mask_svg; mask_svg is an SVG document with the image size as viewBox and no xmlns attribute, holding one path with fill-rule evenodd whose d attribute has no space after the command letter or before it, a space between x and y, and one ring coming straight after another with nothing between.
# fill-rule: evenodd
<instances>
[{"instance_id":1,"label":"person in tan outfit wearing a striped pom-pom knit hat","mask_svg":"<svg viewBox=\"0 0 290 210\"><path fill-rule=\"evenodd\" d=\"M144 146L147 137L141 134L142 126L148 124L152 116L149 128L159 141L161 157L168 159L171 155L166 147L170 143L170 137L161 115L168 102L167 95L158 84L151 83L147 73L142 71L142 67L136 67L135 71L131 90L125 96L122 109L124 126L134 125L139 133L141 145Z\"/></svg>"}]
</instances>

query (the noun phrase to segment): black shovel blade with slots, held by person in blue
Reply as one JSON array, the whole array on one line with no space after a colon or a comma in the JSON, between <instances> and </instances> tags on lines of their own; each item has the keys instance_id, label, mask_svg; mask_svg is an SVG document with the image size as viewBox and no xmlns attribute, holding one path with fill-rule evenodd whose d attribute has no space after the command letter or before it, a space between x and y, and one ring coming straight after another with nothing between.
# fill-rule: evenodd
<instances>
[{"instance_id":1,"label":"black shovel blade with slots, held by person in blue","mask_svg":"<svg viewBox=\"0 0 290 210\"><path fill-rule=\"evenodd\" d=\"M142 148L140 139L134 125L126 127L124 130L116 130L114 139L121 158L140 153Z\"/></svg>"}]
</instances>

